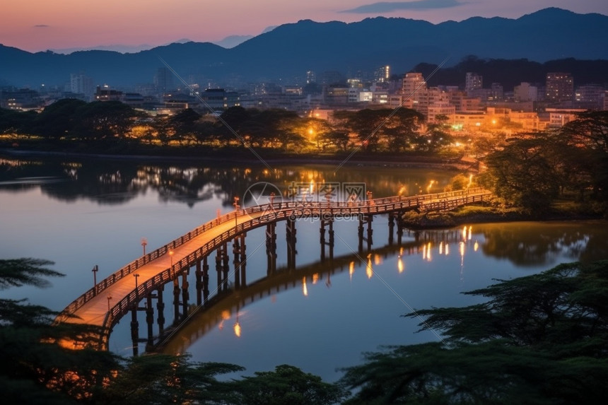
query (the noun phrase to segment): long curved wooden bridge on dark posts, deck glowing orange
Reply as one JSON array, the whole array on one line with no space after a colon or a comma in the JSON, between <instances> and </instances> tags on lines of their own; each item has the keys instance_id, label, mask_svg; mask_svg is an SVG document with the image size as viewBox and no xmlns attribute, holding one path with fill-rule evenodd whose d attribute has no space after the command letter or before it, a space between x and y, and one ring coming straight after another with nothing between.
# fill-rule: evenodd
<instances>
[{"instance_id":1,"label":"long curved wooden bridge on dark posts, deck glowing orange","mask_svg":"<svg viewBox=\"0 0 608 405\"><path fill-rule=\"evenodd\" d=\"M209 298L209 276L207 274L209 266L207 265L207 257L214 251L221 250L222 247L226 250L226 244L230 240L234 240L235 245L238 245L238 237L242 238L241 241L244 244L244 235L249 230L267 225L269 227L267 228L268 248L269 243L271 244L269 232L274 233L274 225L278 221L287 221L288 227L290 223L295 227L293 224L299 218L322 218L321 223L324 226L324 221L327 218L330 218L329 221L331 221L331 218L343 218L345 216L371 218L375 215L388 213L390 214L390 218L397 218L397 225L400 226L399 219L407 211L450 211L459 206L484 201L489 196L491 196L491 192L485 189L472 188L457 192L392 196L366 201L281 201L252 206L247 209L239 209L219 216L213 221L209 221L186 235L173 240L168 245L160 247L122 267L122 269L119 269L114 274L97 283L95 287L76 298L62 311L57 317L56 322L90 324L100 327L100 336L98 336L98 339L95 339L98 341L97 348L107 350L107 342L110 338L112 327L129 311L132 314L131 334L134 334L134 341L136 340L137 331L134 330L137 327L136 311L144 310L144 308L138 307L139 302L144 300L144 298L148 300L145 310L148 311L148 317L151 319L153 317L150 313L152 311L151 298L152 294L156 293L156 298L159 300L157 304L159 311L159 335L162 335L162 322L164 321L162 315L164 307L162 292L165 284L173 282L175 303L177 304L180 293L179 277L182 276L181 290L184 297L184 312L187 312L188 283L186 276L190 267L197 266L197 302L200 305L201 290L204 290L205 300ZM361 236L363 235L362 225L360 225L359 230L361 250L361 240L363 239ZM325 230L323 229L322 235L324 234ZM293 244L295 245L295 228L293 228L292 237ZM276 239L276 235L274 235L274 238ZM331 230L330 242L333 243ZM295 250L293 252L295 255ZM242 259L245 261L244 252ZM226 259L226 272L223 280L220 279L221 273L218 270L218 289L222 283L227 283L227 262L228 259ZM203 271L201 271L201 263L204 263L202 266ZM239 276L238 271L235 276ZM180 314L176 305L176 321L179 316ZM151 334L150 319L148 319L148 336ZM71 343L74 344L74 347L78 347L78 342Z\"/></svg>"}]
</instances>

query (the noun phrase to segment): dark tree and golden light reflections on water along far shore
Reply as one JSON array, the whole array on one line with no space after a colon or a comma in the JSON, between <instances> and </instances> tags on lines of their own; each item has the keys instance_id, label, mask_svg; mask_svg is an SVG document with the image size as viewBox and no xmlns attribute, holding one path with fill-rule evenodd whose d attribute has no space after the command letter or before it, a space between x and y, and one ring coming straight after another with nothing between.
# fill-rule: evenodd
<instances>
[{"instance_id":1,"label":"dark tree and golden light reflections on water along far shore","mask_svg":"<svg viewBox=\"0 0 608 405\"><path fill-rule=\"evenodd\" d=\"M228 163L142 163L121 159L0 158L0 188L18 191L40 187L44 194L61 201L90 199L98 204L125 204L146 192L158 193L160 201L179 201L188 206L219 197L223 206L233 196L245 196L257 182L271 182L287 190L291 184L308 184L311 193L317 184L356 182L373 187L375 197L412 195L424 191L433 177L433 191L442 191L452 173L429 170L334 165L277 165L274 171L260 166L232 166ZM243 201L246 204L247 201Z\"/></svg>"}]
</instances>

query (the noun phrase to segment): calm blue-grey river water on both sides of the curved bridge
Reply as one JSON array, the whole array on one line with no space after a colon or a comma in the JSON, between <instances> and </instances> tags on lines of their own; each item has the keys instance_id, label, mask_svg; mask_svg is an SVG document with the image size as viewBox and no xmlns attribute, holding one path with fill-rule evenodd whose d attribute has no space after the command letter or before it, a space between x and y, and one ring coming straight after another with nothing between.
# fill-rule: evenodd
<instances>
[{"instance_id":1,"label":"calm blue-grey river water on both sides of the curved bridge","mask_svg":"<svg viewBox=\"0 0 608 405\"><path fill-rule=\"evenodd\" d=\"M148 252L165 245L218 212L232 211L233 196L244 196L256 182L281 190L294 182L360 182L382 197L439 192L456 174L384 166L344 167L337 173L330 165L278 169L0 158L0 258L49 259L66 274L49 288L1 293L62 310L93 286L93 266L99 267L100 281L141 256L142 237ZM262 293L247 288L195 315L168 351L236 363L247 368L240 374L288 363L336 380L341 375L336 369L361 363L365 351L438 339L432 332L416 333L419 320L402 317L405 313L478 302L462 292L496 278L608 257L608 228L600 221L472 224L421 235L431 242L416 242L414 233L407 233L402 246L396 240L389 246L387 218L380 216L373 221L372 250L363 254L357 252L358 223L337 221L334 260L320 264L319 223L301 220L296 226L296 271L267 281ZM263 235L264 229L247 234L250 286L267 275ZM277 253L277 267L286 266L284 223L277 226ZM213 292L215 271L210 275ZM169 287L165 297L170 324ZM194 291L190 297L195 303ZM110 349L124 356L132 353L129 321L122 319L110 338ZM144 337L144 314L139 322Z\"/></svg>"}]
</instances>

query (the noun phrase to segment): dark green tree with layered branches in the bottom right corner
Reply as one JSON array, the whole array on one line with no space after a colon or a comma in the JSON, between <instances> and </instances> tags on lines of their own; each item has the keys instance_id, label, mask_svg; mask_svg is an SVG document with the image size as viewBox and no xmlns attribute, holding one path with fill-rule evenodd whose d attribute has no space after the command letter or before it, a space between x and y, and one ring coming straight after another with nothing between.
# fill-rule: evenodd
<instances>
[{"instance_id":1,"label":"dark green tree with layered branches in the bottom right corner","mask_svg":"<svg viewBox=\"0 0 608 405\"><path fill-rule=\"evenodd\" d=\"M368 353L346 404L594 404L608 394L608 261L561 264L407 314L443 340Z\"/></svg>"}]
</instances>

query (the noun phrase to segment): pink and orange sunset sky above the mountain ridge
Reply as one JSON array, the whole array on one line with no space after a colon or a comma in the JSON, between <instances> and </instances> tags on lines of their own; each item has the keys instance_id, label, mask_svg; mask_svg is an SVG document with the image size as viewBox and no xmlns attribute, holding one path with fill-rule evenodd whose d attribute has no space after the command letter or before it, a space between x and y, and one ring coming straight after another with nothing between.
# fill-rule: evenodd
<instances>
[{"instance_id":1,"label":"pink and orange sunset sky above the mountain ridge","mask_svg":"<svg viewBox=\"0 0 608 405\"><path fill-rule=\"evenodd\" d=\"M303 19L349 23L385 16L440 23L473 16L518 18L546 7L608 15L608 1L600 0L28 0L2 6L0 43L37 52L164 45L184 38L215 42Z\"/></svg>"}]
</instances>

